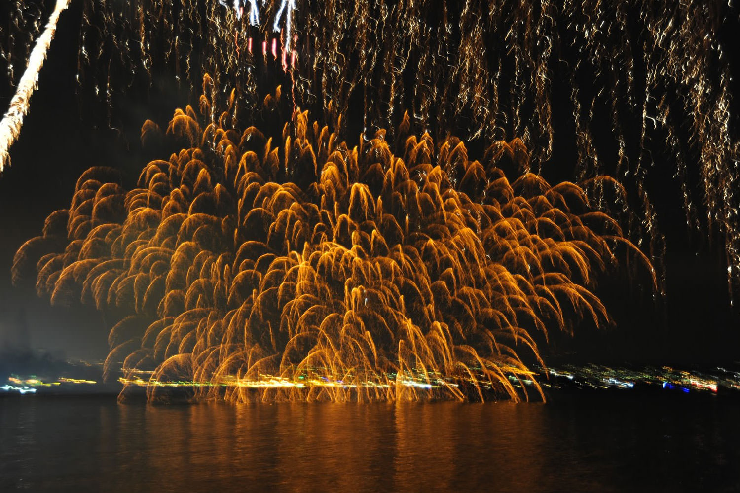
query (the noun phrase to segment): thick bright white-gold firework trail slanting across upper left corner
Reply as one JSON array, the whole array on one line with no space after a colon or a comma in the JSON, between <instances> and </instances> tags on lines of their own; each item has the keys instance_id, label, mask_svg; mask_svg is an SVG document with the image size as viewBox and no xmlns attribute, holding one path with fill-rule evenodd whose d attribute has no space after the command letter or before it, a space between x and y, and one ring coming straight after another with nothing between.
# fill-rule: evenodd
<instances>
[{"instance_id":1,"label":"thick bright white-gold firework trail slanting across upper left corner","mask_svg":"<svg viewBox=\"0 0 740 493\"><path fill-rule=\"evenodd\" d=\"M13 95L13 99L10 100L10 108L5 113L2 121L0 121L0 172L4 169L4 166L7 166L10 163L10 155L8 154L8 152L10 152L10 146L12 146L16 139L18 139L19 135L21 135L23 118L28 113L31 95L33 95L33 91L36 90L38 72L41 71L41 67L44 65L44 60L46 60L49 45L54 38L59 15L67 9L69 4L70 0L56 1L56 6L49 16L49 21L44 33L39 36L36 41L36 46L33 47L33 51L31 51L26 71L21 77L18 89L16 89L16 94Z\"/></svg>"}]
</instances>

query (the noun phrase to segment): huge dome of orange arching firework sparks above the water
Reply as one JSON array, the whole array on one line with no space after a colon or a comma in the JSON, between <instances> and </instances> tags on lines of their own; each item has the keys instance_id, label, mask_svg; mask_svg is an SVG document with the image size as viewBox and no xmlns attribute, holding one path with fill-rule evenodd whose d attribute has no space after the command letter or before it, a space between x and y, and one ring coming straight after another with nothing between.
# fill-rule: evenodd
<instances>
[{"instance_id":1,"label":"huge dome of orange arching firework sparks above the water","mask_svg":"<svg viewBox=\"0 0 740 493\"><path fill-rule=\"evenodd\" d=\"M300 110L277 139L227 112L210 122L206 96L200 113L175 113L166 137L186 148L138 188L84 173L16 254L15 275L36 265L53 303L133 313L108 366L149 372L152 394L190 381L233 401L518 399L537 333L608 320L590 288L616 252L649 267L578 186L509 183L499 165L527 166L519 140L479 162L454 137L412 135L408 116L394 143L380 130L350 149ZM147 121L142 139L159 133Z\"/></svg>"}]
</instances>

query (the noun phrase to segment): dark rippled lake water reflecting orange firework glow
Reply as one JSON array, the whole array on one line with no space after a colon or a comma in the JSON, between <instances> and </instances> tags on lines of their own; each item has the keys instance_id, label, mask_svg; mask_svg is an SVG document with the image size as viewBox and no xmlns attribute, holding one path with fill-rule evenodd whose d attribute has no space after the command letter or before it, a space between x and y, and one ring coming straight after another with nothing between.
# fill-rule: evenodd
<instances>
[{"instance_id":1,"label":"dark rippled lake water reflecting orange firework glow","mask_svg":"<svg viewBox=\"0 0 740 493\"><path fill-rule=\"evenodd\" d=\"M740 403L117 404L0 399L0 491L739 491Z\"/></svg>"}]
</instances>

